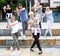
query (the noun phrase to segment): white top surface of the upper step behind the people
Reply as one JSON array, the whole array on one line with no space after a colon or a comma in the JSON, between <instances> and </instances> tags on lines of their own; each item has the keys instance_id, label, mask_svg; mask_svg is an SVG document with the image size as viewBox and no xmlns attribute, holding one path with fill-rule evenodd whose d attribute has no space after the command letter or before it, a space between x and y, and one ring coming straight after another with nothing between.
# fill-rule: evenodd
<instances>
[{"instance_id":1,"label":"white top surface of the upper step behind the people","mask_svg":"<svg viewBox=\"0 0 60 56\"><path fill-rule=\"evenodd\" d=\"M22 29L22 23L19 22L20 24L20 29ZM47 23L42 22L42 29L47 29ZM0 29L6 29L7 22L0 22ZM60 23L53 23L52 29L60 29Z\"/></svg>"}]
</instances>

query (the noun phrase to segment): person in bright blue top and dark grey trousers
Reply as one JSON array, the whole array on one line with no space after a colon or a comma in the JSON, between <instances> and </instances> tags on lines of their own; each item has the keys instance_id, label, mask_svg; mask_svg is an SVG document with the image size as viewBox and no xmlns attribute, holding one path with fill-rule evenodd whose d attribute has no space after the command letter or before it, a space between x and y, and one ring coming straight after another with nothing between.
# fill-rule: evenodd
<instances>
[{"instance_id":1,"label":"person in bright blue top and dark grey trousers","mask_svg":"<svg viewBox=\"0 0 60 56\"><path fill-rule=\"evenodd\" d=\"M25 38L25 31L28 28L28 14L26 9L22 6L22 4L18 4L18 15L21 17L22 27L23 27L23 38Z\"/></svg>"}]
</instances>

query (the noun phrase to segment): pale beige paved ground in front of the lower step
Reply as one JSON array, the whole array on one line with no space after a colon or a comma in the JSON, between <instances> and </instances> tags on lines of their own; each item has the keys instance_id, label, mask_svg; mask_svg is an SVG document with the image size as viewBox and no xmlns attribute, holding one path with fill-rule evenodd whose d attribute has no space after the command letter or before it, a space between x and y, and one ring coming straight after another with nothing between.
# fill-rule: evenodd
<instances>
[{"instance_id":1,"label":"pale beige paved ground in front of the lower step","mask_svg":"<svg viewBox=\"0 0 60 56\"><path fill-rule=\"evenodd\" d=\"M18 51L9 51L5 48L0 48L0 56L60 56L60 48L42 48L43 53L38 55L38 49L35 48L34 52L30 52L29 48L21 48L21 52L18 55Z\"/></svg>"}]
</instances>

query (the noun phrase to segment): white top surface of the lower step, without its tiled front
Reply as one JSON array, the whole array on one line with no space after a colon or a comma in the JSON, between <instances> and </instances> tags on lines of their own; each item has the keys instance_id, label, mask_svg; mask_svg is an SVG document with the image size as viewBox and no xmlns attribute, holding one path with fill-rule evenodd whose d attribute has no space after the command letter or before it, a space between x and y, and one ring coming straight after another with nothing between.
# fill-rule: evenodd
<instances>
[{"instance_id":1,"label":"white top surface of the lower step, without its tiled front","mask_svg":"<svg viewBox=\"0 0 60 56\"><path fill-rule=\"evenodd\" d=\"M26 38L22 38L21 36L19 36L18 38L19 40L34 40L34 38L32 38L31 36L26 36ZM41 36L39 38L40 40L60 40L60 36ZM12 36L0 36L0 40L13 40Z\"/></svg>"}]
</instances>

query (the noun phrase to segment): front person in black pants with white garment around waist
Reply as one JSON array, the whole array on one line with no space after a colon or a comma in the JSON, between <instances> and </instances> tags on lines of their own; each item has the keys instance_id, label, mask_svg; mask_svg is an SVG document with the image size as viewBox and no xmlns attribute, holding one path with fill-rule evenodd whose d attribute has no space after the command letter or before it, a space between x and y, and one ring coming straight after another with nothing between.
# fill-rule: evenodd
<instances>
[{"instance_id":1,"label":"front person in black pants with white garment around waist","mask_svg":"<svg viewBox=\"0 0 60 56\"><path fill-rule=\"evenodd\" d=\"M42 49L41 49L41 46L40 46L40 43L39 43L39 37L40 37L40 28L39 28L39 18L35 18L34 17L34 13L33 12L30 12L29 13L29 16L30 16L30 20L28 21L28 24L31 24L31 28L32 28L32 37L34 38L34 42L30 48L31 51L34 51L33 50L33 47L35 45L37 45L38 49L39 49L39 54L42 54Z\"/></svg>"}]
</instances>

